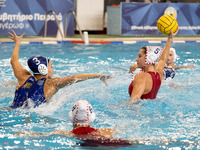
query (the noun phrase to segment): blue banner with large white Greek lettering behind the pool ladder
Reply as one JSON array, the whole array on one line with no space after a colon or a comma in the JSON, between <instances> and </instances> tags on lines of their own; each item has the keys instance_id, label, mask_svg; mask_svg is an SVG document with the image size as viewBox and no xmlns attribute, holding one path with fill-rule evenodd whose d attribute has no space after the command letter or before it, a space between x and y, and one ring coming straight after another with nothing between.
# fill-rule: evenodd
<instances>
[{"instance_id":1,"label":"blue banner with large white Greek lettering behind the pool ladder","mask_svg":"<svg viewBox=\"0 0 200 150\"><path fill-rule=\"evenodd\" d=\"M74 0L2 0L0 2L0 36L16 33L43 36L45 16L54 11L58 21L65 26L66 13L74 9ZM47 16L47 35L57 34L57 24L52 13ZM65 28L65 27L64 27ZM67 17L67 35L74 35L74 16Z\"/></svg>"}]
</instances>

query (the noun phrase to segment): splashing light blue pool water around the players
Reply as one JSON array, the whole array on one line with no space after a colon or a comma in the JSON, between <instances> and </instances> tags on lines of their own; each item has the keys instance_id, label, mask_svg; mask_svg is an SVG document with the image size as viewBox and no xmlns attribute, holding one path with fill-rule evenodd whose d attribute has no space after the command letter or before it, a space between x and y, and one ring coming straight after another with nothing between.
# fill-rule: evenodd
<instances>
[{"instance_id":1,"label":"splashing light blue pool water around the players","mask_svg":"<svg viewBox=\"0 0 200 150\"><path fill-rule=\"evenodd\" d=\"M104 73L114 76L108 87L91 79L61 89L49 104L30 110L0 111L0 149L90 149L66 136L14 136L22 131L51 132L72 130L68 112L75 101L88 100L96 113L95 128L123 126L115 138L137 141L117 149L200 149L200 43L174 43L178 70L173 80L164 81L155 100L127 105L131 74L138 51L145 45L164 44L57 44L21 45L20 62L34 55L51 58L54 77L79 73ZM0 45L0 108L11 104L16 79L10 65L14 45ZM105 149L105 147L104 147ZM111 148L108 148L111 149Z\"/></svg>"}]
</instances>

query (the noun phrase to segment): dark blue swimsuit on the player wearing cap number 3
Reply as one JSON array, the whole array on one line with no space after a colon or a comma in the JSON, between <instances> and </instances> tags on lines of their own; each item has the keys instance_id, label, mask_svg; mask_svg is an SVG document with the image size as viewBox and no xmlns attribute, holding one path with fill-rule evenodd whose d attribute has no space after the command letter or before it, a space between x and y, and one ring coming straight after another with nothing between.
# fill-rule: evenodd
<instances>
[{"instance_id":1,"label":"dark blue swimsuit on the player wearing cap number 3","mask_svg":"<svg viewBox=\"0 0 200 150\"><path fill-rule=\"evenodd\" d=\"M35 81L34 76L30 76L26 82L15 91L15 98L10 106L11 108L19 107L37 107L42 103L46 102L44 96L44 83L46 78Z\"/></svg>"}]
</instances>

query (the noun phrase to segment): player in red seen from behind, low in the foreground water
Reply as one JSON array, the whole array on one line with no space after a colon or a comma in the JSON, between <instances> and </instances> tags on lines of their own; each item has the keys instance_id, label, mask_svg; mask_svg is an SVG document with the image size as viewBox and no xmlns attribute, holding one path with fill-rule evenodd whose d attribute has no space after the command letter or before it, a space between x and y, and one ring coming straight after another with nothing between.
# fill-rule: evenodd
<instances>
[{"instance_id":1,"label":"player in red seen from behind, low in the foreground water","mask_svg":"<svg viewBox=\"0 0 200 150\"><path fill-rule=\"evenodd\" d=\"M86 100L77 101L72 110L69 112L69 119L73 123L72 131L56 130L50 133L38 132L21 132L15 135L50 135L50 134L64 134L71 135L77 139L84 141L82 146L127 146L131 145L128 140L115 139L112 135L116 130L109 128L97 129L92 128L90 124L95 120L95 113L91 104Z\"/></svg>"}]
</instances>

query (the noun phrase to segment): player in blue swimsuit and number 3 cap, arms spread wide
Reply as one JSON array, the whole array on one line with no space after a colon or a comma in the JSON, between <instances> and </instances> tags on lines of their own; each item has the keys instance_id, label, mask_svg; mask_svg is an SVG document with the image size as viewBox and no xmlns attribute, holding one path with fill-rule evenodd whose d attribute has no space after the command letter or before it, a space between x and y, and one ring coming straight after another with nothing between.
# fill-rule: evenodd
<instances>
[{"instance_id":1,"label":"player in blue swimsuit and number 3 cap, arms spread wide","mask_svg":"<svg viewBox=\"0 0 200 150\"><path fill-rule=\"evenodd\" d=\"M9 34L9 38L15 43L10 62L14 75L18 80L14 101L10 106L13 109L19 107L35 108L42 103L48 102L60 88L76 82L100 78L100 80L107 85L106 79L111 78L109 75L96 73L52 78L52 62L43 56L33 56L28 59L27 62L29 68L33 72L32 75L28 70L24 69L19 62L19 48L24 34L17 36L13 30L12 33Z\"/></svg>"}]
</instances>

